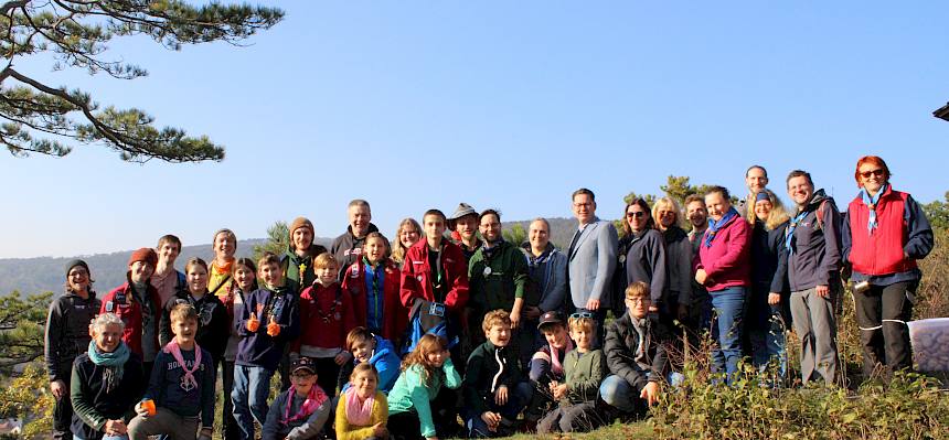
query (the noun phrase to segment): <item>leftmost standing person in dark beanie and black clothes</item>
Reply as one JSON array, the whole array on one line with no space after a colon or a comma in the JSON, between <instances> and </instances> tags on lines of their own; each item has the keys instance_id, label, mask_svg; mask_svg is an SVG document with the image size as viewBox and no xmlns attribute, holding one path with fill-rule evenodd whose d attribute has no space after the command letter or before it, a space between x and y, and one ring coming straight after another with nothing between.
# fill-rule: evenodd
<instances>
[{"instance_id":1,"label":"leftmost standing person in dark beanie and black clothes","mask_svg":"<svg viewBox=\"0 0 949 440\"><path fill-rule=\"evenodd\" d=\"M56 399L53 409L53 438L71 439L70 379L73 361L88 350L89 323L96 318L102 302L92 290L89 266L83 260L66 264L66 291L50 304L46 318L43 353L50 375L50 390Z\"/></svg>"}]
</instances>

